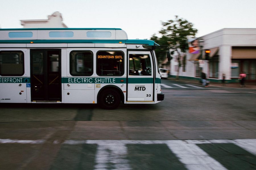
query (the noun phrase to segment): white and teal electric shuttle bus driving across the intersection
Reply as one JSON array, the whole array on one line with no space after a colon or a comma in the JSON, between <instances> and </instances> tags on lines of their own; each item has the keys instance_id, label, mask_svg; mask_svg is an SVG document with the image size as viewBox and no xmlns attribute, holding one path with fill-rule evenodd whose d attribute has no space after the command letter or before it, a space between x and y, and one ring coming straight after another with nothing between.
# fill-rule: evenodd
<instances>
[{"instance_id":1,"label":"white and teal electric shuttle bus driving across the intersection","mask_svg":"<svg viewBox=\"0 0 256 170\"><path fill-rule=\"evenodd\" d=\"M118 28L0 29L0 103L158 103L157 46Z\"/></svg>"}]
</instances>

